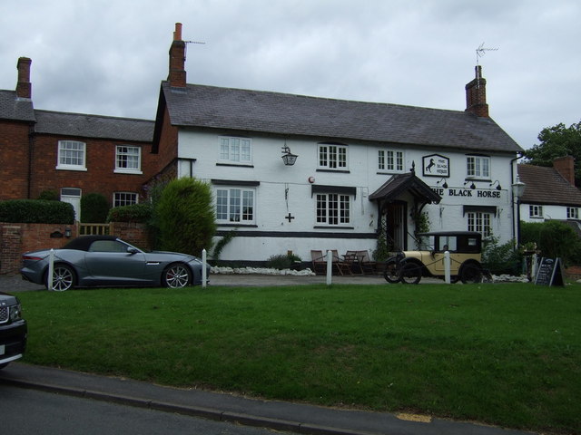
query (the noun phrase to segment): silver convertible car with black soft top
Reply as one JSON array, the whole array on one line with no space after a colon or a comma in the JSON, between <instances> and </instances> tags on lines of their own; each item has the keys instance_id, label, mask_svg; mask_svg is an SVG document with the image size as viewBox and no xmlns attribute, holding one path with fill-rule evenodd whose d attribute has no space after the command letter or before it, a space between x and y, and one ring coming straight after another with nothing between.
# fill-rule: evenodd
<instances>
[{"instance_id":1,"label":"silver convertible car with black soft top","mask_svg":"<svg viewBox=\"0 0 581 435\"><path fill-rule=\"evenodd\" d=\"M20 274L48 287L50 249L26 252ZM210 266L206 265L206 282ZM174 252L143 252L113 236L83 236L54 249L53 290L94 286L202 284L202 260Z\"/></svg>"}]
</instances>

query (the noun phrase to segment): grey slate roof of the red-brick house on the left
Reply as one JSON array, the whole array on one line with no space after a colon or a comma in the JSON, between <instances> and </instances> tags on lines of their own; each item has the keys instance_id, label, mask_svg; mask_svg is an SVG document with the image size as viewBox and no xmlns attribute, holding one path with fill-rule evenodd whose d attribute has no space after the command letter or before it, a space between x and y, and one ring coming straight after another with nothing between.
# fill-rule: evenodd
<instances>
[{"instance_id":1,"label":"grey slate roof of the red-brick house on the left","mask_svg":"<svg viewBox=\"0 0 581 435\"><path fill-rule=\"evenodd\" d=\"M153 121L60 111L34 111L36 133L83 138L153 140Z\"/></svg>"}]
</instances>

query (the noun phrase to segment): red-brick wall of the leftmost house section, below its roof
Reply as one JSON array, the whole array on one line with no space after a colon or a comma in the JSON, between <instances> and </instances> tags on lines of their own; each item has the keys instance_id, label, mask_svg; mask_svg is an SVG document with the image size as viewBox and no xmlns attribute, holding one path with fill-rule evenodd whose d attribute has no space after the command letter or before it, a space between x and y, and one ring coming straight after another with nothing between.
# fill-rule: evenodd
<instances>
[{"instance_id":1,"label":"red-brick wall of the leftmost house section, below its roof","mask_svg":"<svg viewBox=\"0 0 581 435\"><path fill-rule=\"evenodd\" d=\"M26 122L0 121L0 200L27 198L29 129Z\"/></svg>"}]
</instances>

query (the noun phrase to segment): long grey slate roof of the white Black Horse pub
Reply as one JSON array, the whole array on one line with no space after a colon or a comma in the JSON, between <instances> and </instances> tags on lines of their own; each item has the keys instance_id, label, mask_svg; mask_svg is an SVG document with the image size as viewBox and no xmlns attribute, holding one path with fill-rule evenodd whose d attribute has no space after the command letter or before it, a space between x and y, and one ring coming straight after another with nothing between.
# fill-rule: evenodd
<instances>
[{"instance_id":1,"label":"long grey slate roof of the white Black Horse pub","mask_svg":"<svg viewBox=\"0 0 581 435\"><path fill-rule=\"evenodd\" d=\"M474 151L522 151L495 121L466 111L162 82L172 125ZM158 117L158 122L160 122ZM160 125L158 125L160 128ZM154 147L157 146L154 143Z\"/></svg>"}]
</instances>

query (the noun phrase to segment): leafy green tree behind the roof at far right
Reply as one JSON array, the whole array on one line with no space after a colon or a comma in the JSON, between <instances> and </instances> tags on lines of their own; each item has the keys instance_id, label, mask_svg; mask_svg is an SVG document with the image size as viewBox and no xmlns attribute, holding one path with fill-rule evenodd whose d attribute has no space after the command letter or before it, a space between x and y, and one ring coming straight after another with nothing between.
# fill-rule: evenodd
<instances>
[{"instance_id":1,"label":"leafy green tree behind the roof at far right","mask_svg":"<svg viewBox=\"0 0 581 435\"><path fill-rule=\"evenodd\" d=\"M575 158L575 184L581 186L581 121L566 127L559 123L554 127L546 127L538 134L541 142L524 157L527 163L537 166L552 166L558 157L573 156Z\"/></svg>"}]
</instances>

